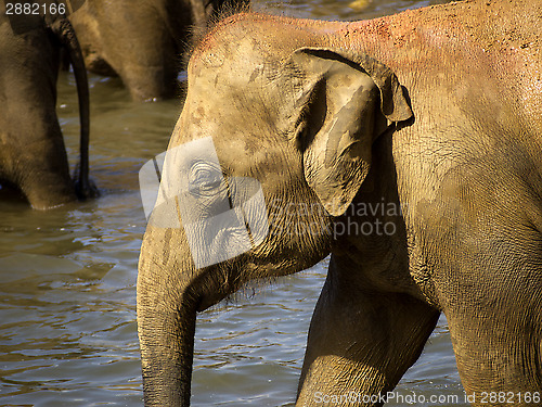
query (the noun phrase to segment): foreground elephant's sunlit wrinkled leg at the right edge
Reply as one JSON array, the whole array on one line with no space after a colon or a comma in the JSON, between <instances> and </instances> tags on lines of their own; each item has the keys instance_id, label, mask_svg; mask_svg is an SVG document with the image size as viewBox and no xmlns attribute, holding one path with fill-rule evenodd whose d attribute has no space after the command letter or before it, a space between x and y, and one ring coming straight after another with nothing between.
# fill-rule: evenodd
<instances>
[{"instance_id":1,"label":"foreground elephant's sunlit wrinkled leg at the right edge","mask_svg":"<svg viewBox=\"0 0 542 407\"><path fill-rule=\"evenodd\" d=\"M475 406L542 405L542 239L522 222L465 239L436 284Z\"/></svg>"}]
</instances>

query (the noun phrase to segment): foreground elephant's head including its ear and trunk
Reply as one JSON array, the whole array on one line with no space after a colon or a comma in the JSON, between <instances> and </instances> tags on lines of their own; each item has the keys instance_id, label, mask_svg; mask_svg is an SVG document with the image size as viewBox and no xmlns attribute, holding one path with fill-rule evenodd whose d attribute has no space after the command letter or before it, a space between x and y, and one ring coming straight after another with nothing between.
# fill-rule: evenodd
<instances>
[{"instance_id":1,"label":"foreground elephant's head including its ear and trunk","mask_svg":"<svg viewBox=\"0 0 542 407\"><path fill-rule=\"evenodd\" d=\"M197 311L330 253L330 225L367 176L373 142L412 116L378 61L315 34L271 47L270 31L235 18L191 58L150 200L138 278L149 406L190 404Z\"/></svg>"}]
</instances>

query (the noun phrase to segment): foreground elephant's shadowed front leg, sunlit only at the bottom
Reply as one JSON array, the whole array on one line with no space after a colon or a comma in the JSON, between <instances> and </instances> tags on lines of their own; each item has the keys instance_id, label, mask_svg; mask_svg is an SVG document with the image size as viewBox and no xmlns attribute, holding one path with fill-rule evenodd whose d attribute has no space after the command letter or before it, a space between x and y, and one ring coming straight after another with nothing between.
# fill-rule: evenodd
<instances>
[{"instance_id":1,"label":"foreground elephant's shadowed front leg, sunlit only at the bottom","mask_svg":"<svg viewBox=\"0 0 542 407\"><path fill-rule=\"evenodd\" d=\"M440 313L420 300L353 287L338 278L332 257L312 316L297 406L382 405L435 329Z\"/></svg>"}]
</instances>

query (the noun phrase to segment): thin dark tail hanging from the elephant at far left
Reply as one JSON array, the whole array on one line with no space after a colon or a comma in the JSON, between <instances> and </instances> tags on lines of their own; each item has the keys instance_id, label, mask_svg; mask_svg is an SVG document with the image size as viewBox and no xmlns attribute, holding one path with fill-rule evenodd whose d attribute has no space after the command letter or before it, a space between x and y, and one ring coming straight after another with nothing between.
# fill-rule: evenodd
<instances>
[{"instance_id":1,"label":"thin dark tail hanging from the elephant at far left","mask_svg":"<svg viewBox=\"0 0 542 407\"><path fill-rule=\"evenodd\" d=\"M75 180L75 189L77 196L80 200L86 200L96 195L96 189L89 180L90 98L87 69L79 41L69 21L67 18L59 18L51 25L51 29L66 48L69 61L74 67L80 124L79 166L78 177Z\"/></svg>"}]
</instances>

